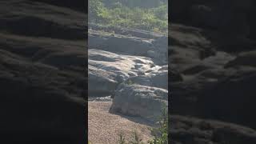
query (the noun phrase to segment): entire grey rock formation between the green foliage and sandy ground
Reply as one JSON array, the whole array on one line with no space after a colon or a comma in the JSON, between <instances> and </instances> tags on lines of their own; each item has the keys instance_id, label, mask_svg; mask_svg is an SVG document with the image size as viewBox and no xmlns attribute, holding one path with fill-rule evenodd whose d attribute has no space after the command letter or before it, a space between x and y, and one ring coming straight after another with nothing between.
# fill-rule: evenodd
<instances>
[{"instance_id":1,"label":"entire grey rock formation between the green foliage and sandy ground","mask_svg":"<svg viewBox=\"0 0 256 144\"><path fill-rule=\"evenodd\" d=\"M111 113L155 122L168 100L168 39L140 30L108 31L90 26L89 98L110 95Z\"/></svg>"}]
</instances>

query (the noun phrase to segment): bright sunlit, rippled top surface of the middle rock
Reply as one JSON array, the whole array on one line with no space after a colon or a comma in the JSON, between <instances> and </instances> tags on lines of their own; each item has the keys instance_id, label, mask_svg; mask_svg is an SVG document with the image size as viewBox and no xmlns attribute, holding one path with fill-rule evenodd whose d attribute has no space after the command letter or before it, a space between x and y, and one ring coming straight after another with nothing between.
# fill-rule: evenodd
<instances>
[{"instance_id":1,"label":"bright sunlit, rippled top surface of the middle rock","mask_svg":"<svg viewBox=\"0 0 256 144\"><path fill-rule=\"evenodd\" d=\"M118 82L123 82L130 76L145 74L148 70L158 70L151 58L115 54L97 49L90 49L88 53L90 66L117 74Z\"/></svg>"}]
</instances>

